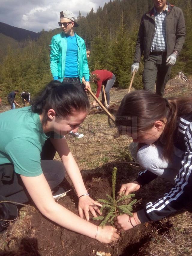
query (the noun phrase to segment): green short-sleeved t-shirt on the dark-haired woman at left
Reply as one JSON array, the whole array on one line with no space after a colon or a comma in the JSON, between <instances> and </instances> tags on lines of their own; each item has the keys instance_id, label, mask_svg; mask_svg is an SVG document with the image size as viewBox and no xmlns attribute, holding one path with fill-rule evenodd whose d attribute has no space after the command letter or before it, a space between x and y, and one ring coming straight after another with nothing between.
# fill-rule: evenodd
<instances>
[{"instance_id":1,"label":"green short-sleeved t-shirt on the dark-haired woman at left","mask_svg":"<svg viewBox=\"0 0 192 256\"><path fill-rule=\"evenodd\" d=\"M23 176L40 175L41 149L48 138L39 115L30 107L1 113L0 164L13 164L15 172Z\"/></svg>"}]
</instances>

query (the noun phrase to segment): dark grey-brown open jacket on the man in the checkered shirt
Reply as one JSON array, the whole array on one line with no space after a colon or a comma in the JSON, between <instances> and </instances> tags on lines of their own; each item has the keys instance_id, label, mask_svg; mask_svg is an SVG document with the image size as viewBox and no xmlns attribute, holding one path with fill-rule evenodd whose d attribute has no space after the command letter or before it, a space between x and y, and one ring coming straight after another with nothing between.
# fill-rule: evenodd
<instances>
[{"instance_id":1,"label":"dark grey-brown open jacket on the man in the checkered shirt","mask_svg":"<svg viewBox=\"0 0 192 256\"><path fill-rule=\"evenodd\" d=\"M185 21L180 8L168 4L168 11L165 18L167 57L177 50L182 50L185 38ZM137 36L134 62L140 62L141 56L149 58L152 41L155 35L154 8L143 15Z\"/></svg>"}]
</instances>

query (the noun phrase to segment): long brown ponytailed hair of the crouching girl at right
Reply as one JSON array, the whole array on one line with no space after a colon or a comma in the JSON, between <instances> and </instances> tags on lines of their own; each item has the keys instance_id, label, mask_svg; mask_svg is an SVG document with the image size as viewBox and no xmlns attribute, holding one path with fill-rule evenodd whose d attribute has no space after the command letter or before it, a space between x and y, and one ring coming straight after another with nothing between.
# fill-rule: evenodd
<instances>
[{"instance_id":1,"label":"long brown ponytailed hair of the crouching girl at right","mask_svg":"<svg viewBox=\"0 0 192 256\"><path fill-rule=\"evenodd\" d=\"M192 97L162 98L148 91L138 90L123 98L116 114L116 125L129 127L131 133L152 128L157 120L167 119L161 140L165 143L163 157L171 160L173 133L180 116L192 113ZM133 122L134 119L137 122ZM126 128L127 129L127 128Z\"/></svg>"}]
</instances>

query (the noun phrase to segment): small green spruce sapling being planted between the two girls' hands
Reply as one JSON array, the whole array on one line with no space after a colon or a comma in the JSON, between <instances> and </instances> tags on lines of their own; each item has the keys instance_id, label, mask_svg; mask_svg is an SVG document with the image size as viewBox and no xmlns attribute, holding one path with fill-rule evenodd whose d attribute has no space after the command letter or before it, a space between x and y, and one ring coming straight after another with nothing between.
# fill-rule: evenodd
<instances>
[{"instance_id":1,"label":"small green spruce sapling being planted between the two girls' hands","mask_svg":"<svg viewBox=\"0 0 192 256\"><path fill-rule=\"evenodd\" d=\"M103 204L100 209L103 216L93 218L94 220L101 220L100 226L106 224L114 225L114 218L117 215L127 214L133 216L133 205L137 202L137 199L132 200L131 198L134 197L135 194L119 195L116 198L116 178L117 168L114 167L112 172L112 197L107 194L107 199L98 199L98 202Z\"/></svg>"}]
</instances>

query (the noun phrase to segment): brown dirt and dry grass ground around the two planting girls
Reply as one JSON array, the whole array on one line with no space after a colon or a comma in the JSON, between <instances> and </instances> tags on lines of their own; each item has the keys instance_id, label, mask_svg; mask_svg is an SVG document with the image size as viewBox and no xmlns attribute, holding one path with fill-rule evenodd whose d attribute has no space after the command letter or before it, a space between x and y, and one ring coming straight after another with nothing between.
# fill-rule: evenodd
<instances>
[{"instance_id":1,"label":"brown dirt and dry grass ground around the two planting girls","mask_svg":"<svg viewBox=\"0 0 192 256\"><path fill-rule=\"evenodd\" d=\"M115 114L126 93L127 90L123 89L111 90L112 114ZM165 97L191 94L191 79L188 83L172 79L166 87ZM7 108L1 108L0 112L5 110ZM130 158L128 146L132 140L126 136L114 139L115 125L102 111L92 109L79 132L85 136L82 139L68 136L67 143L81 170L88 193L95 200L105 198L106 193L111 193L113 167L118 168L117 191L121 184L133 181L142 170ZM55 158L59 159L58 155ZM72 191L58 203L78 214L77 196L68 177L61 186L71 188ZM136 204L134 211L163 196L171 187L170 182L161 178L144 186L136 193L135 197L142 200ZM18 219L10 223L7 232L0 235L0 255L89 256L96 255L97 251L113 256L192 255L191 234L190 206L177 215L125 231L118 242L109 245L61 228L44 218L34 206L26 206L20 209Z\"/></svg>"}]
</instances>

